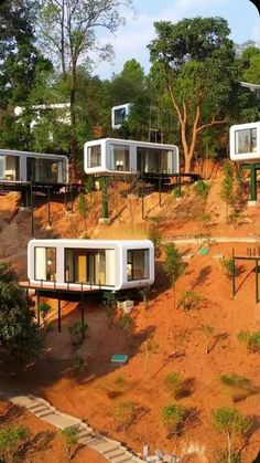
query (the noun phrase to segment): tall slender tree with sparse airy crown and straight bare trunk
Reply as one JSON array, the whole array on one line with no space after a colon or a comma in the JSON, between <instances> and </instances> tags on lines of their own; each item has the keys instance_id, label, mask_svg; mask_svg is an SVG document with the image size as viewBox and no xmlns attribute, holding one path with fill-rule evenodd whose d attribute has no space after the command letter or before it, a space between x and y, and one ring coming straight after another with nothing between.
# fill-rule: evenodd
<instances>
[{"instance_id":1,"label":"tall slender tree with sparse airy crown and straight bare trunk","mask_svg":"<svg viewBox=\"0 0 260 463\"><path fill-rule=\"evenodd\" d=\"M89 66L89 52L110 56L110 45L98 43L96 31L105 28L116 32L123 22L119 9L131 0L37 0L39 28L45 51L61 69L69 86L72 179L77 171L76 88L79 64Z\"/></svg>"}]
</instances>

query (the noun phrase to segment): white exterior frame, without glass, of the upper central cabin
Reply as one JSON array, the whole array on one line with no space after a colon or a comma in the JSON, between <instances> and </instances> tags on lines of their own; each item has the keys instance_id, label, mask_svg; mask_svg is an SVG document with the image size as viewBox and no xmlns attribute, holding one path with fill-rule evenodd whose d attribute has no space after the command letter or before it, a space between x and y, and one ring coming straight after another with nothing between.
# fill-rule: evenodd
<instances>
[{"instance_id":1,"label":"white exterior frame, without glass, of the upper central cabin","mask_svg":"<svg viewBox=\"0 0 260 463\"><path fill-rule=\"evenodd\" d=\"M101 148L101 166L98 167L88 167L88 147L100 145ZM111 158L110 158L110 146L111 145L126 145L130 148L130 156L129 156L129 170L121 171L111 169ZM95 173L134 173L137 172L137 148L138 147L151 147L154 149L165 149L173 151L173 160L172 160L172 172L178 173L180 172L180 158L178 158L178 148L175 145L164 145L164 144L155 144L155 143L148 143L148 141L136 141L136 140L124 140L119 138L101 138L99 140L91 140L86 141L84 145L84 170L86 173L95 175ZM170 158L170 155L169 155ZM171 162L170 162L171 164Z\"/></svg>"}]
</instances>

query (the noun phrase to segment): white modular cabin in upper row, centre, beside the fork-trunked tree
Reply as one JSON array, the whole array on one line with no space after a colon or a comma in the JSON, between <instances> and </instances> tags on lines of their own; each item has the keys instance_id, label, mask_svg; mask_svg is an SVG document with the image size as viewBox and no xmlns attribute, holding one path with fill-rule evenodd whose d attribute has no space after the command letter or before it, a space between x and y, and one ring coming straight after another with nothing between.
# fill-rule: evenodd
<instances>
[{"instance_id":1,"label":"white modular cabin in upper row, centre, beside the fork-trunked tree","mask_svg":"<svg viewBox=\"0 0 260 463\"><path fill-rule=\"evenodd\" d=\"M178 148L148 141L102 138L84 145L88 175L180 172Z\"/></svg>"}]
</instances>

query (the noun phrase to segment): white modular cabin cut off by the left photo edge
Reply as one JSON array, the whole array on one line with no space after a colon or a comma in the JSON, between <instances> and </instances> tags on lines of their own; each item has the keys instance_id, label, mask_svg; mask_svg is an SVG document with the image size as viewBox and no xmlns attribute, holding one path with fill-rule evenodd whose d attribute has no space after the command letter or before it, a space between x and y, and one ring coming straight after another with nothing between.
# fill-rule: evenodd
<instances>
[{"instance_id":1,"label":"white modular cabin cut off by the left photo edge","mask_svg":"<svg viewBox=\"0 0 260 463\"><path fill-rule=\"evenodd\" d=\"M0 181L67 183L66 156L0 149Z\"/></svg>"}]
</instances>

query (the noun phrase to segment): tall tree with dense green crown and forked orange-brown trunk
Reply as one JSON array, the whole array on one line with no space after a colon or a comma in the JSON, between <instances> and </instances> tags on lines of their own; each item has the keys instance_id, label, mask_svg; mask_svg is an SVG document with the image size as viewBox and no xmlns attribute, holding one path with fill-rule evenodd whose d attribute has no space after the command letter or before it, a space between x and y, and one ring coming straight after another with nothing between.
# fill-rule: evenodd
<instances>
[{"instance_id":1,"label":"tall tree with dense green crown and forked orange-brown trunk","mask_svg":"<svg viewBox=\"0 0 260 463\"><path fill-rule=\"evenodd\" d=\"M202 130L225 124L225 106L238 80L235 50L223 18L154 23L151 61L171 97L181 127L185 171Z\"/></svg>"}]
</instances>

